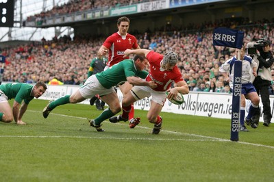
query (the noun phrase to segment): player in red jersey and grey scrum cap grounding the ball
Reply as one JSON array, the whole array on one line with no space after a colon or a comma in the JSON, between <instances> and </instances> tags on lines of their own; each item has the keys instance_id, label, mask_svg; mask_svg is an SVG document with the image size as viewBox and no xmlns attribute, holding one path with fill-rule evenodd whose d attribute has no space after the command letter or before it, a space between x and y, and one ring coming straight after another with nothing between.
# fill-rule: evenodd
<instances>
[{"instance_id":1,"label":"player in red jersey and grey scrum cap grounding the ball","mask_svg":"<svg viewBox=\"0 0 274 182\"><path fill-rule=\"evenodd\" d=\"M147 86L134 86L131 92L128 92L122 101L123 114L110 118L110 122L119 122L121 118L127 118L131 104L145 97L151 97L151 107L147 113L147 119L154 124L152 133L158 134L162 128L162 117L159 116L162 107L166 101L166 91L169 92L167 98L171 99L178 92L188 94L189 88L182 78L182 74L177 67L178 56L173 51L168 51L164 55L155 53L147 49L125 50L125 56L130 54L145 55L149 60L150 70L146 81L154 81L157 84L155 88ZM175 87L171 88L171 83L175 82ZM134 128L140 120L132 120L129 127Z\"/></svg>"}]
</instances>

